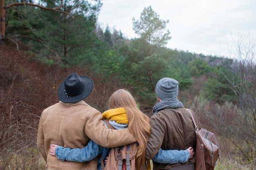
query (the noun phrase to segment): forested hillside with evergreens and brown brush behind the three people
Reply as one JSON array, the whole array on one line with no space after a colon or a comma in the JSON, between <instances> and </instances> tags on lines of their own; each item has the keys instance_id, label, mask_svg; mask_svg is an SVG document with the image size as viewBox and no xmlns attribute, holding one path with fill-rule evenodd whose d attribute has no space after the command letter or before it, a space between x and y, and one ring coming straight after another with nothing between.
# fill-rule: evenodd
<instances>
[{"instance_id":1,"label":"forested hillside with evergreens and brown brush behind the three people","mask_svg":"<svg viewBox=\"0 0 256 170\"><path fill-rule=\"evenodd\" d=\"M100 26L102 5L0 0L0 170L45 169L36 148L40 115L58 102L58 86L74 72L92 78L85 102L101 113L110 95L125 88L148 117L157 103L157 81L176 79L178 99L218 139L216 170L255 170L255 41L242 38L232 56L169 49L169 21L152 7L131 18L138 38L128 39L121 30Z\"/></svg>"}]
</instances>

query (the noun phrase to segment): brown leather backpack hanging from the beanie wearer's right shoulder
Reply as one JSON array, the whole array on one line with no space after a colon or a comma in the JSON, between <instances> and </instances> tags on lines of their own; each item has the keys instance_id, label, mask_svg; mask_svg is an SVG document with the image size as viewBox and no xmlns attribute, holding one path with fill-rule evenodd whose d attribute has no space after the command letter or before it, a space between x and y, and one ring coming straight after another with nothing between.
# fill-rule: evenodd
<instances>
[{"instance_id":1,"label":"brown leather backpack hanging from the beanie wearer's right shoulder","mask_svg":"<svg viewBox=\"0 0 256 170\"><path fill-rule=\"evenodd\" d=\"M213 132L201 128L198 129L195 118L191 111L187 109L195 125L197 135L195 148L195 170L213 170L220 157L220 150Z\"/></svg>"}]
</instances>

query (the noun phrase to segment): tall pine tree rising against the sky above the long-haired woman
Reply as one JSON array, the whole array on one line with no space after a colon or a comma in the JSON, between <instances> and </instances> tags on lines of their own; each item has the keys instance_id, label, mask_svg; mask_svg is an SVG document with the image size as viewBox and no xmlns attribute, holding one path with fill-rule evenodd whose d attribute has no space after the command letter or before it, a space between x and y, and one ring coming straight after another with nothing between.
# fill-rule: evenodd
<instances>
[{"instance_id":1,"label":"tall pine tree rising against the sky above the long-haired woman","mask_svg":"<svg viewBox=\"0 0 256 170\"><path fill-rule=\"evenodd\" d=\"M171 39L168 30L164 33L168 21L160 20L151 7L144 8L140 20L133 18L132 21L133 29L140 37L132 40L129 46L120 46L120 54L124 56L121 68L125 71L120 71L119 75L126 85L137 91L153 92L159 77L171 68L161 54L155 53Z\"/></svg>"}]
</instances>

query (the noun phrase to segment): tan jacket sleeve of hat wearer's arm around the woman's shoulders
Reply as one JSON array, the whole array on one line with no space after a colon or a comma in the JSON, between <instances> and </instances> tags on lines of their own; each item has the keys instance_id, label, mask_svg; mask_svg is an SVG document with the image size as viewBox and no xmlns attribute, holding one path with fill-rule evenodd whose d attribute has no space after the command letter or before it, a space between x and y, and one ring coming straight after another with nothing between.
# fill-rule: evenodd
<instances>
[{"instance_id":1,"label":"tan jacket sleeve of hat wearer's arm around the woman's shoulders","mask_svg":"<svg viewBox=\"0 0 256 170\"><path fill-rule=\"evenodd\" d=\"M113 130L102 121L102 115L99 111L91 111L88 114L88 120L85 124L85 133L95 143L105 148L113 148L132 144L137 140L130 133L128 128Z\"/></svg>"}]
</instances>

